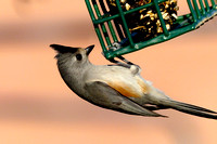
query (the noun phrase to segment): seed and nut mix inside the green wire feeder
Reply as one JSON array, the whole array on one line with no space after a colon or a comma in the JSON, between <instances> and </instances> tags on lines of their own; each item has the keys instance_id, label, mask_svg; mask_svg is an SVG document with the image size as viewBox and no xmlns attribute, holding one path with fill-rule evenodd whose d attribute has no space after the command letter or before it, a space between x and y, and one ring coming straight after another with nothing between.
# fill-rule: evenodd
<instances>
[{"instance_id":1,"label":"seed and nut mix inside the green wire feeder","mask_svg":"<svg viewBox=\"0 0 217 144\"><path fill-rule=\"evenodd\" d=\"M108 0L108 1L110 1L108 4L112 8L115 8L111 10L111 14L118 13L116 9L116 0ZM145 5L152 2L153 0L119 0L119 1L124 11L129 11L141 5ZM173 24L178 18L177 11L179 10L179 6L177 5L177 0L166 0L164 2L159 2L158 5L162 17L165 22L166 29L167 30L173 29ZM163 32L162 23L153 5L127 14L125 17L128 23L129 31L131 34L138 32L139 35L139 39L137 39L138 41L151 39ZM122 25L120 21L117 21L117 23Z\"/></svg>"}]
</instances>

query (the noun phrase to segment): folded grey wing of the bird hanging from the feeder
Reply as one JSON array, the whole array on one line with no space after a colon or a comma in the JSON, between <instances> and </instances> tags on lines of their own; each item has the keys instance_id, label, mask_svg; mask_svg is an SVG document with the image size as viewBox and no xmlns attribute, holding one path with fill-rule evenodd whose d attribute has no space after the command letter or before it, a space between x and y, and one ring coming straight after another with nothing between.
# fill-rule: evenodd
<instances>
[{"instance_id":1,"label":"folded grey wing of the bird hanging from the feeder","mask_svg":"<svg viewBox=\"0 0 217 144\"><path fill-rule=\"evenodd\" d=\"M165 117L142 107L126 96L123 96L118 91L105 82L88 81L86 82L85 89L90 94L89 96L91 97L92 103L98 106L131 115Z\"/></svg>"}]
</instances>

